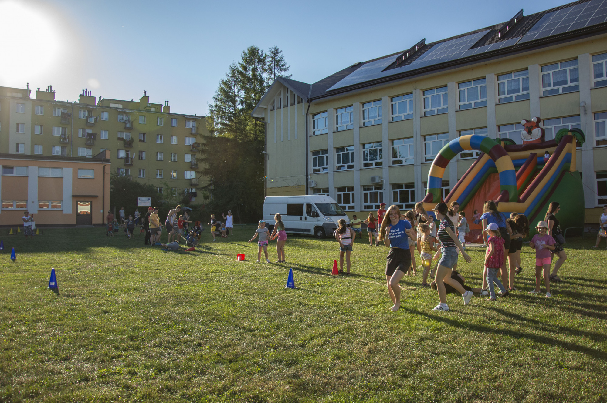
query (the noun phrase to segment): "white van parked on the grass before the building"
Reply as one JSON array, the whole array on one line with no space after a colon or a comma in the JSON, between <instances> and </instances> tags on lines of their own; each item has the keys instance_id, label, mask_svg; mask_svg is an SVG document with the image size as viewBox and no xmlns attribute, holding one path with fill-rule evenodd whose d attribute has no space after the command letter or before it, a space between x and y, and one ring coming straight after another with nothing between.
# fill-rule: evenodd
<instances>
[{"instance_id":1,"label":"white van parked on the grass before the building","mask_svg":"<svg viewBox=\"0 0 607 403\"><path fill-rule=\"evenodd\" d=\"M280 214L285 231L292 234L313 234L324 238L333 234L337 222L344 218L350 223L333 198L323 195L268 196L263 201L263 220L270 232L274 228L274 214Z\"/></svg>"}]
</instances>

